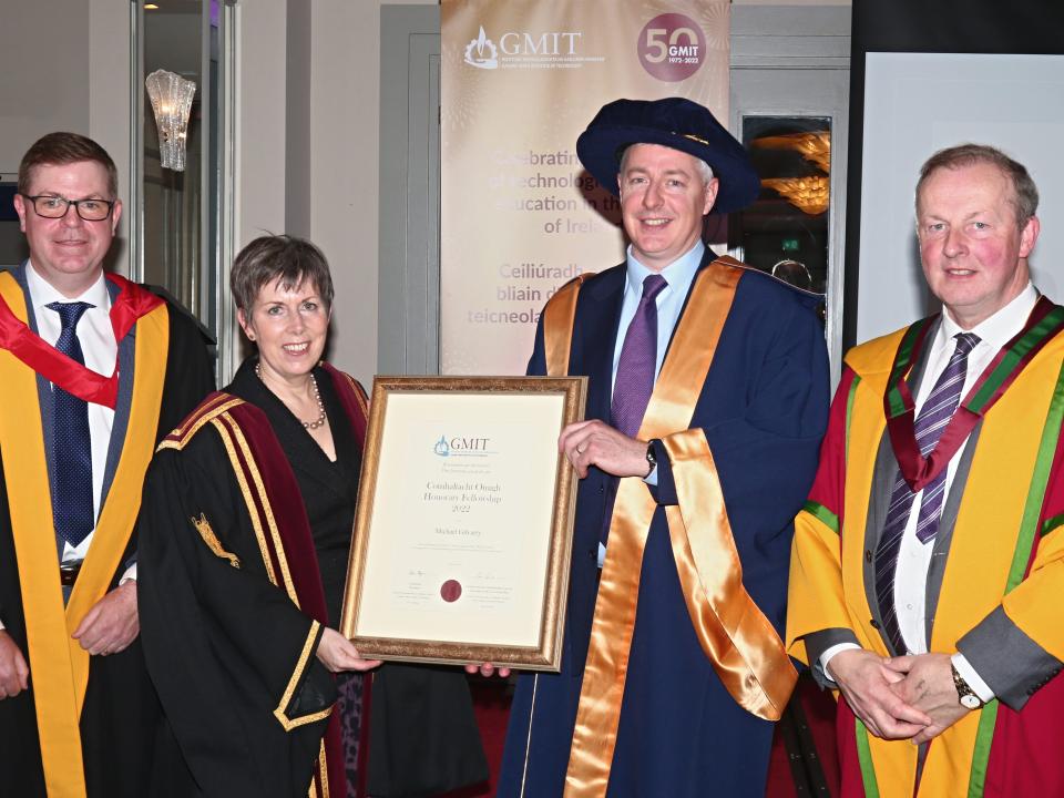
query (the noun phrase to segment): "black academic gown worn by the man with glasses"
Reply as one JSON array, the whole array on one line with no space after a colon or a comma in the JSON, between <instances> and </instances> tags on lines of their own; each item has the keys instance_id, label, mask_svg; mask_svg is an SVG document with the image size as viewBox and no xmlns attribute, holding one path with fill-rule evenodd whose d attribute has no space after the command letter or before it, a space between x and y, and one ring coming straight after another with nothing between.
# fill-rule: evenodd
<instances>
[{"instance_id":1,"label":"black academic gown worn by the man with glasses","mask_svg":"<svg viewBox=\"0 0 1064 798\"><path fill-rule=\"evenodd\" d=\"M165 352L166 376L155 440L176 426L214 388L213 364L195 323L184 311L168 305L170 339ZM132 361L135 328L120 341L123 366L120 376L119 407L112 449L121 446L120 432L132 399ZM125 359L126 356L130 359ZM3 412L17 412L6 407ZM114 454L114 452L112 452ZM0 466L0 485L6 485ZM51 530L42 530L52 534ZM136 534L130 540L111 583L117 586L129 559L136 551ZM57 553L57 569L59 557ZM7 632L29 658L25 620L14 553L8 491L0 489L0 616ZM0 700L0 795L14 798L44 796L41 747L33 700L33 663L30 688L13 698ZM152 760L154 729L158 723L158 699L144 668L140 640L121 654L94 656L90 661L89 685L81 714L82 758L90 798L143 798L149 795L147 777Z\"/></svg>"}]
</instances>

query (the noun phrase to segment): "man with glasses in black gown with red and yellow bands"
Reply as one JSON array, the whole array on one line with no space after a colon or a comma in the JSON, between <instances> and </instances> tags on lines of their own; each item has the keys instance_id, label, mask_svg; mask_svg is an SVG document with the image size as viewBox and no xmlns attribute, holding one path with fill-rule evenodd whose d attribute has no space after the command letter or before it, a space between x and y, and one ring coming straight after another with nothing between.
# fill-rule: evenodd
<instances>
[{"instance_id":1,"label":"man with glasses in black gown with red and yellow bands","mask_svg":"<svg viewBox=\"0 0 1064 798\"><path fill-rule=\"evenodd\" d=\"M135 542L161 434L211 389L195 324L103 262L122 216L95 142L43 136L0 274L0 773L6 795L146 796L157 699Z\"/></svg>"}]
</instances>

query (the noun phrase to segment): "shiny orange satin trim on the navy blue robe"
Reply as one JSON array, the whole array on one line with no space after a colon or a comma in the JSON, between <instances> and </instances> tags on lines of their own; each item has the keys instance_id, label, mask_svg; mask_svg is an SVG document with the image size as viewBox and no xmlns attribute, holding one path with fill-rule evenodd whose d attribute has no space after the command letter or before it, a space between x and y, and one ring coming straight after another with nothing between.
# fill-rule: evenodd
<instances>
[{"instance_id":1,"label":"shiny orange satin trim on the navy blue robe","mask_svg":"<svg viewBox=\"0 0 1064 798\"><path fill-rule=\"evenodd\" d=\"M638 437L661 438L668 452L679 503L666 508L666 519L687 608L703 651L740 706L776 720L797 674L775 628L743 586L741 563L713 454L702 430L688 429L741 276L741 265L732 258L718 258L698 274ZM575 310L577 287L566 291L572 296L563 307L571 303ZM555 325L566 318L567 327L559 329ZM551 367L567 366L572 321L572 314L551 314L548 306L544 342ZM553 370L550 374L555 376ZM564 375L565 369L556 374ZM643 480L621 480L565 777L567 798L606 794L635 628L643 551L656 510L657 503Z\"/></svg>"}]
</instances>

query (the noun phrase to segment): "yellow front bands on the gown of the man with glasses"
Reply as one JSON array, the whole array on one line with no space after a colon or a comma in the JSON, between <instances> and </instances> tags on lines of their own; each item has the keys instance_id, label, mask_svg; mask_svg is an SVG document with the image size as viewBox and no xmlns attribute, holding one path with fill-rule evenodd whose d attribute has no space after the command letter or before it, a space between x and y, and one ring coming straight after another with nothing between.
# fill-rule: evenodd
<instances>
[{"instance_id":1,"label":"yellow front bands on the gown of the man with glasses","mask_svg":"<svg viewBox=\"0 0 1064 798\"><path fill-rule=\"evenodd\" d=\"M24 323L25 298L9 273L0 274L0 296ZM59 582L37 374L11 352L0 350L0 385L4 387L8 406L17 408L14 412L0 413L0 452L19 562L30 677L49 798L85 796L79 722L89 684L89 653L71 634L106 593L136 521L144 473L158 427L166 371L166 358L160 355L167 350L168 338L165 305L137 320L133 405L122 457L65 608Z\"/></svg>"}]
</instances>

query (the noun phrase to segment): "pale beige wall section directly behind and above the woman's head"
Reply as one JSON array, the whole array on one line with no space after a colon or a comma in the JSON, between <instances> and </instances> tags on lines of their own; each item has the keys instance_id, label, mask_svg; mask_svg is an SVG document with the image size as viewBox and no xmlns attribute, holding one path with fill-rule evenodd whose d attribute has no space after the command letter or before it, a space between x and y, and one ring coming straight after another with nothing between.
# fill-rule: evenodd
<instances>
[{"instance_id":1,"label":"pale beige wall section directly behind and above the woman's head","mask_svg":"<svg viewBox=\"0 0 1064 798\"><path fill-rule=\"evenodd\" d=\"M336 286L330 357L366 383L377 365L379 39L388 1L237 7L237 247L264 231L309 234Z\"/></svg>"}]
</instances>

